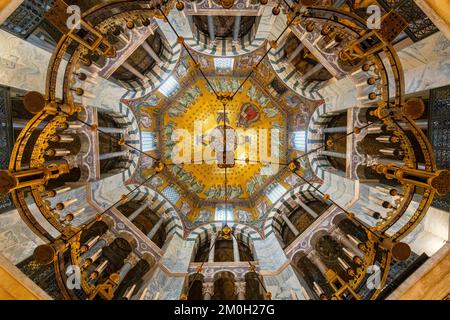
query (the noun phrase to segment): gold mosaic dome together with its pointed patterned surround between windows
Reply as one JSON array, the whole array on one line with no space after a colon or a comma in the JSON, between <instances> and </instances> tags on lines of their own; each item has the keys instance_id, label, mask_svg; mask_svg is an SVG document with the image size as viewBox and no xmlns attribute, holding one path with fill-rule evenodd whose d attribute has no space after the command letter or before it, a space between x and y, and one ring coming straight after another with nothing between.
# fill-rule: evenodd
<instances>
[{"instance_id":1,"label":"gold mosaic dome together with its pointed patterned surround between windows","mask_svg":"<svg viewBox=\"0 0 450 320\"><path fill-rule=\"evenodd\" d=\"M161 175L149 181L149 186L159 192L170 187L180 194L174 205L185 218L188 229L214 221L216 206L224 202L224 169L218 167L217 141L213 134L215 128L223 127L224 121L236 136L234 166L227 169L227 201L232 204L234 221L258 227L272 206L265 195L274 182L286 189L302 184L282 165L302 154L293 150L289 132L304 130L321 101L307 100L292 92L267 60L263 60L227 104L225 115L223 104L214 94L214 91L228 94L238 89L251 61L259 57L259 51L237 57L232 70L218 74L212 57L196 54L208 75L209 85L185 55L173 75L180 88L172 96L154 91L139 99L122 100L134 111L141 130L155 134L157 148L147 153L161 157L168 164ZM196 121L202 131L196 129ZM180 129L185 131L178 137L176 132ZM260 130L262 135L267 134L266 143L260 143ZM279 133L279 148L271 150L271 132L275 130ZM254 155L251 152L255 151L249 147L252 138L257 141L257 161L250 159ZM266 159L263 164L259 162L262 154ZM272 165L271 157L277 158ZM302 159L301 164L305 177L314 179L308 161ZM143 181L153 174L151 165L150 158L142 157L139 174L130 183Z\"/></svg>"}]
</instances>

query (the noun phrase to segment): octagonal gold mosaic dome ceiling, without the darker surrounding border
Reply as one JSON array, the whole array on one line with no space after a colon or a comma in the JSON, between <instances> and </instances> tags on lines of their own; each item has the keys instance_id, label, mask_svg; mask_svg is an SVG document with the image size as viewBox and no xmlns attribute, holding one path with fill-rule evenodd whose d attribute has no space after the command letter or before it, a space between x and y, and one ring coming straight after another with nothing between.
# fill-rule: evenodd
<instances>
[{"instance_id":1,"label":"octagonal gold mosaic dome ceiling, without the darker surrounding border","mask_svg":"<svg viewBox=\"0 0 450 320\"><path fill-rule=\"evenodd\" d=\"M210 81L216 92L231 94L243 79L220 77L210 78ZM225 199L225 169L218 166L220 151L214 136L214 129L222 128L224 121L237 140L233 167L227 169L230 202L255 196L273 181L280 169L278 163L286 158L285 111L257 82L244 83L234 99L226 104L224 116L222 102L206 81L198 78L180 90L162 110L160 132L162 159L169 164L169 174L184 191L200 201ZM181 131L183 138L174 141L177 140L174 133L180 129L184 131ZM178 156L185 146L183 142L189 150L183 149L184 153ZM256 153L251 153L252 147L257 148L253 150ZM170 165L179 163L181 158L186 163ZM272 160L276 164L270 165L271 159L276 159Z\"/></svg>"}]
</instances>

